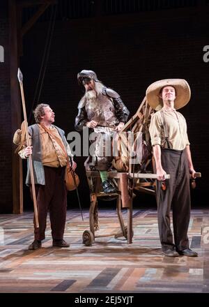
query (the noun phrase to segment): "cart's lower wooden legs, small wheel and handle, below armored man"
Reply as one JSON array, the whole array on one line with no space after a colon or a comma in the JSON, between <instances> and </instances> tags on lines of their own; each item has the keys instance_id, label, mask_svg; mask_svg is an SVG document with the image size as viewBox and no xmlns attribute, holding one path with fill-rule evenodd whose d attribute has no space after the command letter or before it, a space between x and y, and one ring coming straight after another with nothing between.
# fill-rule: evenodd
<instances>
[{"instance_id":1,"label":"cart's lower wooden legs, small wheel and handle, below armored man","mask_svg":"<svg viewBox=\"0 0 209 307\"><path fill-rule=\"evenodd\" d=\"M91 206L89 209L89 225L90 229L85 230L83 233L83 243L86 246L90 246L93 241L95 241L95 238L99 237L109 237L114 236L115 238L119 237L125 237L127 239L127 243L132 243L132 237L134 235L134 232L132 230L132 196L130 195L128 191L128 184L129 181L134 180L139 181L137 184L137 188L144 188L144 184L146 184L146 188L148 186L147 183L140 183L140 179L157 179L156 174L133 174L133 173L124 173L124 172L117 172L117 171L111 171L109 172L109 178L114 181L114 184L117 188L117 193L111 193L111 194L105 194L104 192L101 192L101 180L100 180L100 173L99 172L92 172L87 171L86 176L88 179L88 185L90 188L90 197L91 197ZM169 179L170 175L166 175L166 179ZM121 191L121 181L127 180L127 190ZM151 184L149 184L150 186ZM148 189L148 188L147 188ZM154 190L153 190L153 193ZM125 194L125 195L124 195ZM119 220L119 224L121 227L120 232L111 233L111 234L105 234L105 235L96 235L95 232L99 230L99 220L98 220L98 199L102 197L106 197L110 200L112 200L113 197L116 198L116 212ZM124 201L123 201L124 200ZM123 221L123 215L122 215L122 208L127 208L127 225L125 226L125 223Z\"/></svg>"}]
</instances>

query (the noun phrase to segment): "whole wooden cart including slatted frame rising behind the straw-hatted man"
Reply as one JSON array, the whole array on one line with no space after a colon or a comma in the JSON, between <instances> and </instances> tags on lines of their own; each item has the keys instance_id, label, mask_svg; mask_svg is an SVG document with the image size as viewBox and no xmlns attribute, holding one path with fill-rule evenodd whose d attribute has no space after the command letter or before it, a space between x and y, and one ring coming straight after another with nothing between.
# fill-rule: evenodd
<instances>
[{"instance_id":1,"label":"whole wooden cart including slatted frame rising behind the straw-hatted man","mask_svg":"<svg viewBox=\"0 0 209 307\"><path fill-rule=\"evenodd\" d=\"M150 134L148 127L150 124L150 116L154 110L148 105L146 98L142 101L137 113L125 124L121 132L131 131L132 133L143 133L144 142L150 144ZM130 149L132 150L132 149ZM150 149L151 151L151 149ZM150 165L150 171L147 167ZM132 243L133 230L132 230L132 199L133 189L139 190L144 193L155 195L155 179L156 174L153 174L153 159L152 155L148 156L147 160L141 161L140 165L129 164L128 172L117 172L111 170L108 174L109 179L114 183L117 193L105 194L102 192L102 185L100 180L100 173L98 171L86 170L86 177L88 179L88 186L90 189L91 206L89 209L89 230L83 233L83 243L90 246L95 238L114 236L115 238L125 237L127 243ZM197 173L197 177L201 177ZM167 174L165 179L169 179L170 175ZM122 184L123 182L123 184ZM124 185L124 182L126 183ZM194 185L194 183L193 183ZM125 188L124 188L125 186ZM99 230L98 220L98 200L102 199L112 200L116 198L116 212L121 231L105 235L97 235L96 231ZM127 225L123 221L122 208L127 208Z\"/></svg>"}]
</instances>

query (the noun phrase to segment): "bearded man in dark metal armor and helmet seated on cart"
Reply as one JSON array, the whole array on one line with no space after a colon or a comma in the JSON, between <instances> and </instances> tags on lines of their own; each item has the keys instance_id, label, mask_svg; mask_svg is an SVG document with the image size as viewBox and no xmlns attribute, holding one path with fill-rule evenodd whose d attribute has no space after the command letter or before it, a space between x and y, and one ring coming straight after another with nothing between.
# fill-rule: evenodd
<instances>
[{"instance_id":1,"label":"bearded man in dark metal armor and helmet seated on cart","mask_svg":"<svg viewBox=\"0 0 209 307\"><path fill-rule=\"evenodd\" d=\"M77 80L84 86L85 94L79 101L75 129L79 131L84 127L93 129L96 137L91 165L100 171L104 193L114 193L116 188L107 179L107 171L113 160L111 139L114 133L121 131L130 112L120 95L113 89L105 87L93 70L82 70L78 73ZM110 154L107 154L108 150Z\"/></svg>"}]
</instances>

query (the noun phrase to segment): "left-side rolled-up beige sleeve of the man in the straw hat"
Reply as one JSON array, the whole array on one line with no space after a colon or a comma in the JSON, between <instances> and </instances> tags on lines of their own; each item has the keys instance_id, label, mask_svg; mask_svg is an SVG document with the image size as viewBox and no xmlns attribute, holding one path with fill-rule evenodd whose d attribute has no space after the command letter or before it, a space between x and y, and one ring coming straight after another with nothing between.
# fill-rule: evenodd
<instances>
[{"instance_id":1,"label":"left-side rolled-up beige sleeve of the man in the straw hat","mask_svg":"<svg viewBox=\"0 0 209 307\"><path fill-rule=\"evenodd\" d=\"M162 119L159 116L159 113L155 113L151 117L150 127L149 127L152 146L162 144L161 130L162 130Z\"/></svg>"}]
</instances>

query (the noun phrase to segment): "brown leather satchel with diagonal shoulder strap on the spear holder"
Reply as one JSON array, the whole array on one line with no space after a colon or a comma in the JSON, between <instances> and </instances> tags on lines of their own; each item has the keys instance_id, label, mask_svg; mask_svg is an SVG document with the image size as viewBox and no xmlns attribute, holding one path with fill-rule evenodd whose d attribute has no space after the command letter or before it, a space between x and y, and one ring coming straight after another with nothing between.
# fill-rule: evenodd
<instances>
[{"instance_id":1,"label":"brown leather satchel with diagonal shoulder strap on the spear holder","mask_svg":"<svg viewBox=\"0 0 209 307\"><path fill-rule=\"evenodd\" d=\"M72 167L70 166L70 161L68 158L68 153L65 149L65 146L63 144L63 142L56 137L56 135L54 135L53 133L51 133L51 131L49 129L47 129L45 126L42 126L42 128L45 129L45 131L47 133L49 133L50 137L53 137L54 140L56 140L56 142L59 144L59 146L61 147L61 149L63 149L66 159L67 159L67 165L65 167L65 184L66 184L66 188L67 190L75 190L77 188L77 186L79 186L79 177L78 175L74 172L74 170L72 170ZM71 158L71 157L70 157Z\"/></svg>"}]
</instances>

